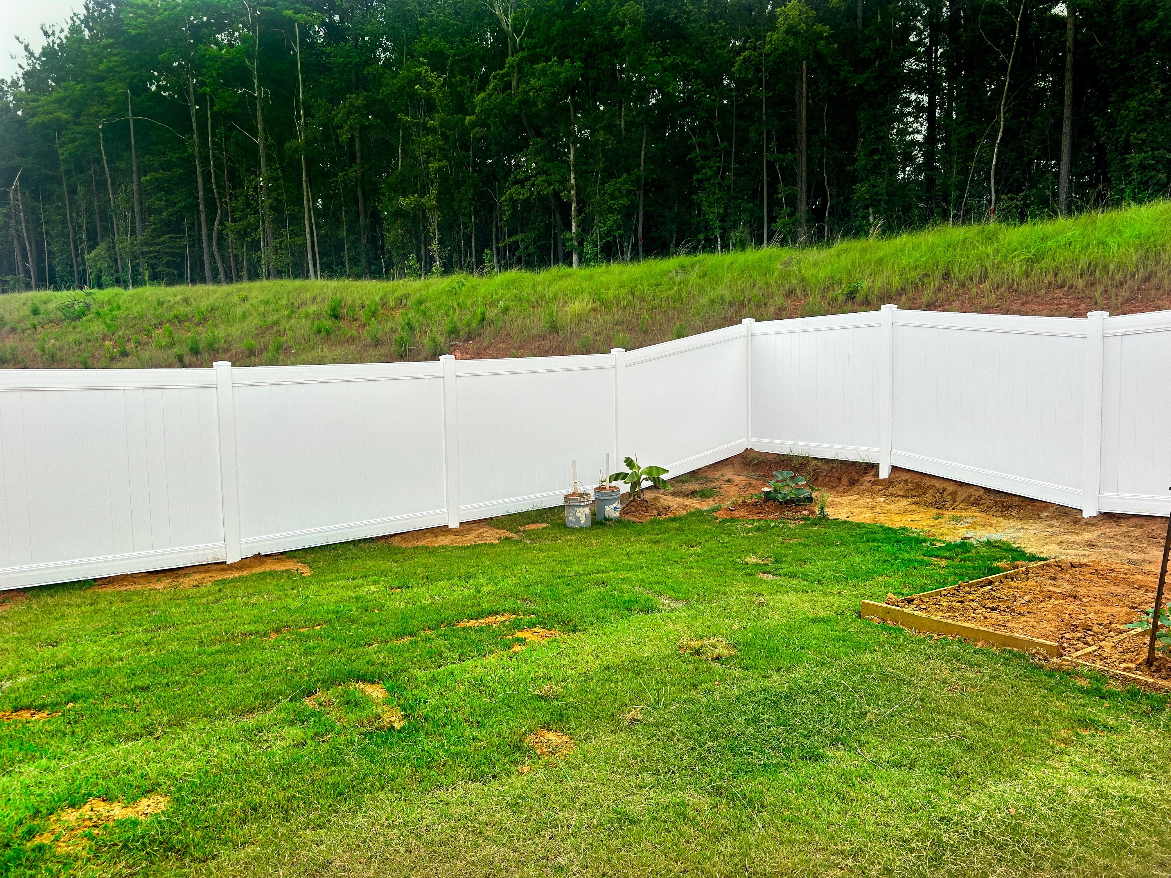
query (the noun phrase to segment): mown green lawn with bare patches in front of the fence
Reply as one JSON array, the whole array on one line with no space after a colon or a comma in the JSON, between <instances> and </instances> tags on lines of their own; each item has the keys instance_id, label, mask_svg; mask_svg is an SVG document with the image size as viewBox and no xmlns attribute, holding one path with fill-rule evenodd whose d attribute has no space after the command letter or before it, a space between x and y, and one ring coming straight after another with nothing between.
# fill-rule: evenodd
<instances>
[{"instance_id":1,"label":"mown green lawn with bare patches in front of the fence","mask_svg":"<svg viewBox=\"0 0 1171 878\"><path fill-rule=\"evenodd\" d=\"M30 591L0 612L0 709L59 715L0 723L0 873L1068 877L1171 864L1164 699L857 616L863 597L1025 553L703 512L521 536L294 553L306 578ZM457 626L494 613L518 618ZM513 651L525 625L563 637ZM703 638L735 654L678 650ZM351 681L381 684L386 701ZM400 728L383 721L392 708ZM541 759L526 743L539 728L576 749ZM30 841L66 807L152 795L170 807L115 824L88 853Z\"/></svg>"}]
</instances>

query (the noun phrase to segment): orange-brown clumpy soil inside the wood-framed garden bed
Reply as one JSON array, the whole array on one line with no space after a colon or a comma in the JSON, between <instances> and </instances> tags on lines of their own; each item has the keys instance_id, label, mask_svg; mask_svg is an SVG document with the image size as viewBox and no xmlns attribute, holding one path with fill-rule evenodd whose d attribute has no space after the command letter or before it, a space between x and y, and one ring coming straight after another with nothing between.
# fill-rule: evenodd
<instances>
[{"instance_id":1,"label":"orange-brown clumpy soil inside the wood-framed garden bed","mask_svg":"<svg viewBox=\"0 0 1171 878\"><path fill-rule=\"evenodd\" d=\"M1165 658L1156 663L1153 671L1139 664L1145 659L1144 635L1123 637L1128 635L1124 626L1138 620L1141 611L1153 603L1155 584L1153 576L1127 565L1053 561L1022 567L992 583L963 583L896 603L937 618L1050 640L1060 644L1067 657L1098 646L1082 658L1119 671L1171 679L1171 663Z\"/></svg>"}]
</instances>

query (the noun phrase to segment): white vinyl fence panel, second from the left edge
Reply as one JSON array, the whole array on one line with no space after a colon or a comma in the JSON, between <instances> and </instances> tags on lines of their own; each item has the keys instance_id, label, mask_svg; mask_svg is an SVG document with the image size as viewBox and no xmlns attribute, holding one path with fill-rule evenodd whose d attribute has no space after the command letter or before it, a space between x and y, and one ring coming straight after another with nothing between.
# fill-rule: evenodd
<instances>
[{"instance_id":1,"label":"white vinyl fence panel, second from the left edge","mask_svg":"<svg viewBox=\"0 0 1171 878\"><path fill-rule=\"evenodd\" d=\"M438 363L232 372L245 557L446 522Z\"/></svg>"}]
</instances>

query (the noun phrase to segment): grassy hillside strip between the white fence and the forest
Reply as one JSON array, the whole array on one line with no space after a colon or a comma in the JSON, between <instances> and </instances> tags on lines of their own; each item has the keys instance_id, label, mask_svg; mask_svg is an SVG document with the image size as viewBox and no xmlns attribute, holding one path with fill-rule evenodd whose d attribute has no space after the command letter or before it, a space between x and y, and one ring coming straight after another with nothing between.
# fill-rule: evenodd
<instances>
[{"instance_id":1,"label":"grassy hillside strip between the white fence and the forest","mask_svg":"<svg viewBox=\"0 0 1171 878\"><path fill-rule=\"evenodd\" d=\"M0 365L193 366L578 354L741 317L900 307L1081 315L1171 307L1171 203L758 249L416 281L269 281L0 296Z\"/></svg>"}]
</instances>

